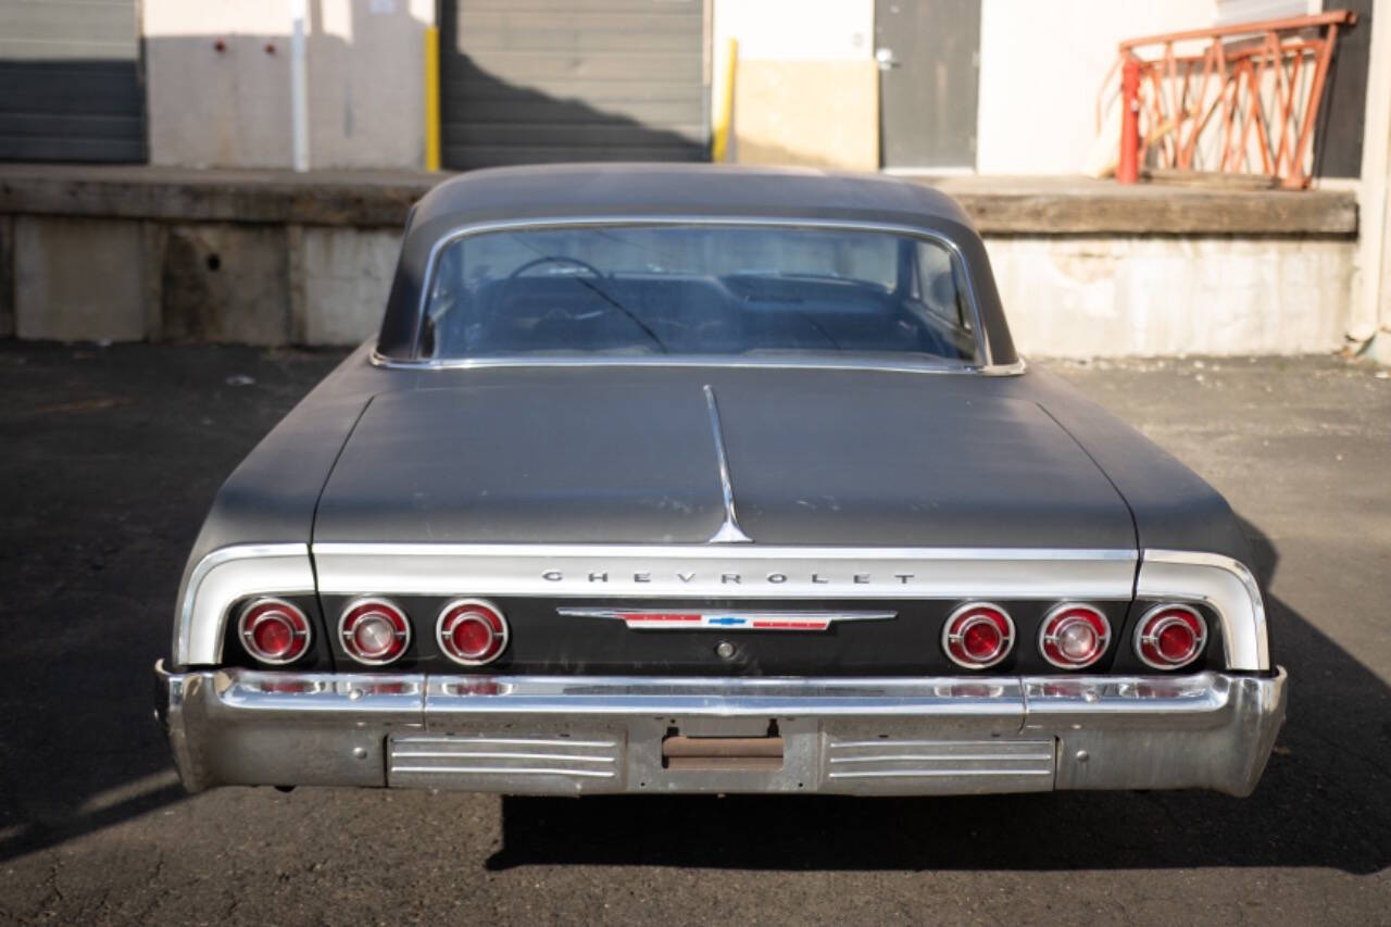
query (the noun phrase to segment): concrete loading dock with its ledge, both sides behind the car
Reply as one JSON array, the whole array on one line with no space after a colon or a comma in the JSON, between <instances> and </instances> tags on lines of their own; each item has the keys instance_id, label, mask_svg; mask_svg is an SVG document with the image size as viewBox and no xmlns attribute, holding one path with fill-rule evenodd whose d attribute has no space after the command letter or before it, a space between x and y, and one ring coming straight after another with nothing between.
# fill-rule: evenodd
<instances>
[{"instance_id":1,"label":"concrete loading dock with its ledge, both sides behind the car","mask_svg":"<svg viewBox=\"0 0 1391 927\"><path fill-rule=\"evenodd\" d=\"M0 334L346 345L376 330L419 173L0 167ZM1351 324L1349 192L946 178L1043 356L1319 354Z\"/></svg>"}]
</instances>

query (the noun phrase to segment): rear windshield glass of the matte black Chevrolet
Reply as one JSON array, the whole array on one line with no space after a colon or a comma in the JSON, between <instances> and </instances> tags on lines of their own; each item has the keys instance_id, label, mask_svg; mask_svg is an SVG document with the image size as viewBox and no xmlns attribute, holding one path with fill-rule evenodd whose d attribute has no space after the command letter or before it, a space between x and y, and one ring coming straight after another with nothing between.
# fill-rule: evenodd
<instances>
[{"instance_id":1,"label":"rear windshield glass of the matte black Chevrolet","mask_svg":"<svg viewBox=\"0 0 1391 927\"><path fill-rule=\"evenodd\" d=\"M445 245L421 354L979 359L944 245L826 227L612 224Z\"/></svg>"}]
</instances>

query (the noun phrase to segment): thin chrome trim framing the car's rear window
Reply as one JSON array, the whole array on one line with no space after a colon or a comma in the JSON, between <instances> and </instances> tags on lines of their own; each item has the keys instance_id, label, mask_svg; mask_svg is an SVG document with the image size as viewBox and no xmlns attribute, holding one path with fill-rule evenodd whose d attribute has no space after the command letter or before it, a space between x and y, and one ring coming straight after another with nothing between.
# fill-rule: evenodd
<instances>
[{"instance_id":1,"label":"thin chrome trim framing the car's rear window","mask_svg":"<svg viewBox=\"0 0 1391 927\"><path fill-rule=\"evenodd\" d=\"M434 285L435 269L438 266L440 253L452 245L453 242L467 238L470 235L483 235L488 232L506 232L506 231L536 231L536 230L554 230L554 228L595 228L604 225L750 225L762 228L825 228L825 230L847 230L847 231L867 231L867 232L882 232L889 235L907 235L911 238L921 238L940 245L947 251L951 258L953 264L961 270L961 277L965 280L965 295L971 303L971 316L975 322L975 342L979 352L979 358L975 363L963 365L933 365L926 363L919 367L918 365L889 365L887 369L907 369L907 370L932 370L936 373L983 373L986 376L1017 376L1024 372L1024 362L1015 360L1008 365L996 365L993 349L990 347L989 334L985 330L985 317L981 315L981 301L976 296L975 277L972 274L972 267L967 263L965 256L961 253L960 245L950 237L932 230L919 228L915 225L903 225L897 223L871 223L871 221L857 221L849 219L814 219L814 217L753 217L753 216L632 216L632 214L612 214L612 216L586 216L586 217L570 217L570 219L517 219L517 220L504 220L504 221L490 221L490 223L472 223L467 225L460 225L449 232L440 235L435 242L430 246L430 255L426 259L424 274L421 276L420 284L420 301L416 306L416 327L412 337L410 358L394 359L385 358L378 351L373 351L371 362L384 367L403 367L403 369L458 369L458 367L473 367L473 366L573 366L576 363L590 365L594 359L576 356L574 359L568 358L538 358L538 359L520 359L520 358L467 358L458 360L433 360L420 356L420 333L423 330L421 322L430 308L430 290ZM718 355L714 355L718 358ZM504 360L512 360L513 363L498 363ZM520 360L520 363L516 363ZM556 365L556 360L569 360L569 365ZM655 366L669 366L664 359L652 359ZM627 362L619 360L618 365L626 366ZM727 366L726 363L718 363L718 366ZM764 365L736 365L736 366L764 366ZM775 363L772 366L803 366L803 365L789 365L789 363ZM819 365L812 365L819 366ZM867 369L881 369L879 365L864 365ZM861 365L851 365L849 369L861 369Z\"/></svg>"}]
</instances>

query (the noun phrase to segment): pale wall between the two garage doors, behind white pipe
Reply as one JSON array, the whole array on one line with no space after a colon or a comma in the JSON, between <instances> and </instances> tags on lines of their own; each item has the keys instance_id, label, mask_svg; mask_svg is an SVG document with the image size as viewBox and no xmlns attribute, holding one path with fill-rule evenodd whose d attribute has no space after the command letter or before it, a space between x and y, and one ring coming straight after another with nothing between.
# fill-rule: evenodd
<instances>
[{"instance_id":1,"label":"pale wall between the two garage doors, behind white pipe","mask_svg":"<svg viewBox=\"0 0 1391 927\"><path fill-rule=\"evenodd\" d=\"M431 0L309 0L310 166L419 167ZM289 3L145 0L150 161L289 167ZM218 50L221 43L221 50Z\"/></svg>"}]
</instances>

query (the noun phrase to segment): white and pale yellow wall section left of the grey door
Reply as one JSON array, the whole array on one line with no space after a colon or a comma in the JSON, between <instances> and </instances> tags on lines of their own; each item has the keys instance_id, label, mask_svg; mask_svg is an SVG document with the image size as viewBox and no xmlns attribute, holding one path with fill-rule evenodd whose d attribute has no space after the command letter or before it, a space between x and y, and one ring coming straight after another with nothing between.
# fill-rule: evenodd
<instances>
[{"instance_id":1,"label":"white and pale yellow wall section left of the grey door","mask_svg":"<svg viewBox=\"0 0 1391 927\"><path fill-rule=\"evenodd\" d=\"M879 167L874 0L714 0L716 95L730 38L739 64L729 160Z\"/></svg>"}]
</instances>

